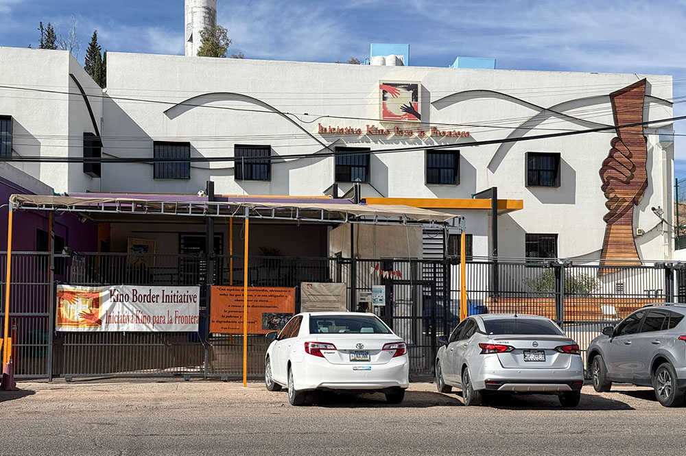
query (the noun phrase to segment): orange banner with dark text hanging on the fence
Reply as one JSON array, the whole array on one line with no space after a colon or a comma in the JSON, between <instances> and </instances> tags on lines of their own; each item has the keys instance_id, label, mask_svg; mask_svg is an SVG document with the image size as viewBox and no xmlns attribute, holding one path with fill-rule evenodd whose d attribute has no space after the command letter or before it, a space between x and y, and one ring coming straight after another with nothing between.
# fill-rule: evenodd
<instances>
[{"instance_id":1,"label":"orange banner with dark text hanging on the fence","mask_svg":"<svg viewBox=\"0 0 686 456\"><path fill-rule=\"evenodd\" d=\"M212 287L210 333L243 333L243 287ZM296 289L248 287L248 334L281 331L296 311Z\"/></svg>"}]
</instances>

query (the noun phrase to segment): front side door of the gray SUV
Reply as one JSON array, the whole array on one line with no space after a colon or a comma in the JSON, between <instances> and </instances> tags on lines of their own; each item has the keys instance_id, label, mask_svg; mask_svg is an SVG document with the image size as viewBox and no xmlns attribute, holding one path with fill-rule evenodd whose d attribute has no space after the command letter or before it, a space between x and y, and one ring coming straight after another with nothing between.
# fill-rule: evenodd
<instances>
[{"instance_id":1,"label":"front side door of the gray SUV","mask_svg":"<svg viewBox=\"0 0 686 456\"><path fill-rule=\"evenodd\" d=\"M615 328L615 335L608 341L606 360L608 376L613 379L632 381L636 363L634 338L641 328L646 311L638 311L626 317Z\"/></svg>"}]
</instances>

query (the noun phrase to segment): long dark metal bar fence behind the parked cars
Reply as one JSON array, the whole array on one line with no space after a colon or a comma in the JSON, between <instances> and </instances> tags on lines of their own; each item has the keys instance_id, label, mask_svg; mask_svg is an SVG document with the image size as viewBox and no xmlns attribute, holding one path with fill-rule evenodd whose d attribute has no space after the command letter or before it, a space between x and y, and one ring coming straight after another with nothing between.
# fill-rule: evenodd
<instances>
[{"instance_id":1,"label":"long dark metal bar fence behind the parked cars","mask_svg":"<svg viewBox=\"0 0 686 456\"><path fill-rule=\"evenodd\" d=\"M6 255L0 253L3 298L5 261ZM303 282L345 283L351 311L359 300L367 299L373 286L383 286L386 305L375 311L407 341L410 372L416 378L433 374L436 339L448 335L459 322L463 285L459 267L453 259L252 256L248 285L294 287L296 312ZM544 315L576 339L582 350L604 326L616 324L649 302L686 301L686 269L679 263L609 267L591 262L484 259L469 261L466 269L470 315ZM211 285L244 285L244 272L242 256L13 252L10 328L16 376L241 376L243 335L209 333L207 296ZM199 330L56 332L56 285L60 283L199 285ZM249 376L263 374L267 346L263 335L248 335Z\"/></svg>"}]
</instances>

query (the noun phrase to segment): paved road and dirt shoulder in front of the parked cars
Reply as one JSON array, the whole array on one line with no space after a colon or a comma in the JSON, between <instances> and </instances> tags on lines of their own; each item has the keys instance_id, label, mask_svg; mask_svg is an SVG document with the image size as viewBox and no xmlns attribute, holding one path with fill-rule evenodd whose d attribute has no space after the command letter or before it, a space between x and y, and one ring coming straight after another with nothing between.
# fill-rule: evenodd
<instances>
[{"instance_id":1,"label":"paved road and dirt shoulder in front of the parked cars","mask_svg":"<svg viewBox=\"0 0 686 456\"><path fill-rule=\"evenodd\" d=\"M414 383L383 396L314 398L291 407L261 383L20 383L0 392L0 455L681 455L686 409L648 389L584 387L578 409L552 396L464 407Z\"/></svg>"}]
</instances>

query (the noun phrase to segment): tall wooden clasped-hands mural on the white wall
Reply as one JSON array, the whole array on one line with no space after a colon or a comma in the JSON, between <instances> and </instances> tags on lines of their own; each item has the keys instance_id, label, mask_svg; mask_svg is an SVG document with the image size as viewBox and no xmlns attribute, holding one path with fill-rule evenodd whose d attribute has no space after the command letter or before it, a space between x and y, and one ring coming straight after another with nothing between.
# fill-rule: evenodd
<instances>
[{"instance_id":1,"label":"tall wooden clasped-hands mural on the white wall","mask_svg":"<svg viewBox=\"0 0 686 456\"><path fill-rule=\"evenodd\" d=\"M610 94L615 125L643 121L643 79ZM603 217L606 228L600 254L602 265L640 265L633 235L634 206L648 187L646 160L648 147L643 125L617 128L617 137L610 142L608 157L600 168L600 187L605 194L608 213ZM606 271L611 272L611 271Z\"/></svg>"}]
</instances>

